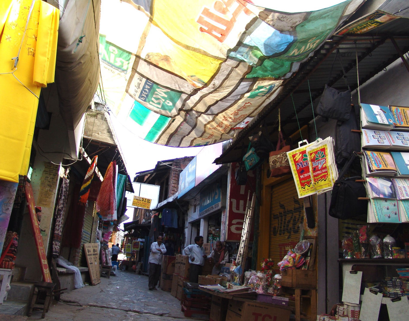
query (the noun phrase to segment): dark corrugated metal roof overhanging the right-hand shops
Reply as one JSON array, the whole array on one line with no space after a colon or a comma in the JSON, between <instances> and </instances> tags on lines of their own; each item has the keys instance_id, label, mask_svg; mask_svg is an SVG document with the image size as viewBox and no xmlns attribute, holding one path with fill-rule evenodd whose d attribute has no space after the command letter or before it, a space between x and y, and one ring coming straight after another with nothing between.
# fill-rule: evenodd
<instances>
[{"instance_id":1,"label":"dark corrugated metal roof overhanging the right-hand shops","mask_svg":"<svg viewBox=\"0 0 409 321\"><path fill-rule=\"evenodd\" d=\"M351 90L358 86L356 56L358 57L359 84L362 85L378 72L400 59L400 52L409 51L409 19L399 18L365 34L332 36L301 64L298 72L284 84L281 93L250 122L231 142L227 150L214 161L217 164L236 162L241 159L242 144L248 144L249 136L263 126L270 140L277 141L278 113L281 111L281 129L285 136L308 124L314 118L319 97L325 84L346 90L342 66ZM339 57L335 54L339 50ZM342 61L342 66L340 61ZM330 75L331 66L334 63ZM329 81L328 81L329 79ZM311 103L312 101L312 103ZM312 104L312 106L311 106ZM297 122L298 118L298 122Z\"/></svg>"}]
</instances>

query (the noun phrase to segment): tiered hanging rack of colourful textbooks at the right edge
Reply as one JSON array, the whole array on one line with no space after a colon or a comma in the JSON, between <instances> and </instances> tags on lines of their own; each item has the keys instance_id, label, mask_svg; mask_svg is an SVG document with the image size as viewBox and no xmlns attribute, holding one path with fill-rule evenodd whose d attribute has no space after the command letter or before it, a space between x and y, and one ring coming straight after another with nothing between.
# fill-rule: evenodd
<instances>
[{"instance_id":1,"label":"tiered hanging rack of colourful textbooks at the right edge","mask_svg":"<svg viewBox=\"0 0 409 321\"><path fill-rule=\"evenodd\" d=\"M361 104L368 223L409 222L409 107Z\"/></svg>"}]
</instances>

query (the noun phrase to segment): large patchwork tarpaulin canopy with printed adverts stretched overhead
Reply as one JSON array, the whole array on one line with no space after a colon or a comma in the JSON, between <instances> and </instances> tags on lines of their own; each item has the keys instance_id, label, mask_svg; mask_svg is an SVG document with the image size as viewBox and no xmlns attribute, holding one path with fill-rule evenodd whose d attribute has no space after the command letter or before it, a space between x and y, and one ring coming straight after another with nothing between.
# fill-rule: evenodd
<instances>
[{"instance_id":1,"label":"large patchwork tarpaulin canopy with printed adverts stretched overhead","mask_svg":"<svg viewBox=\"0 0 409 321\"><path fill-rule=\"evenodd\" d=\"M161 145L234 138L364 0L299 13L250 2L103 0L110 109L125 109L139 136Z\"/></svg>"}]
</instances>

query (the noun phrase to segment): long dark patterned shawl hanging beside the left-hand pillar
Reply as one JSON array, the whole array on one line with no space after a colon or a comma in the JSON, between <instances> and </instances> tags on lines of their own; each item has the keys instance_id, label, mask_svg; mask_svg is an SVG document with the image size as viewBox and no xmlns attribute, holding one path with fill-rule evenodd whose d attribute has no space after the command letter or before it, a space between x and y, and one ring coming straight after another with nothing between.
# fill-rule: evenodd
<instances>
[{"instance_id":1,"label":"long dark patterned shawl hanging beside the left-hand pillar","mask_svg":"<svg viewBox=\"0 0 409 321\"><path fill-rule=\"evenodd\" d=\"M64 216L65 216L65 207L67 205L67 196L68 196L68 185L70 180L66 177L63 177L61 180L60 191L58 192L58 198L56 203L56 209L54 213L55 222L54 222L54 236L52 240L52 255L54 258L60 255L61 247L61 235L63 232ZM90 184L91 185L91 182ZM81 188L82 189L82 188ZM81 194L81 191L80 191ZM89 194L89 188L88 193Z\"/></svg>"}]
</instances>

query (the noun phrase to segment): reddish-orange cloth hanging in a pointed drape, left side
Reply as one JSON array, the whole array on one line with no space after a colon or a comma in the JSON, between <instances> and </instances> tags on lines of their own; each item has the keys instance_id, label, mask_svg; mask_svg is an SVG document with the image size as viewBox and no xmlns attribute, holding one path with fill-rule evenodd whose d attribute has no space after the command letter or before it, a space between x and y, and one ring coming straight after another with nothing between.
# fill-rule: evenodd
<instances>
[{"instance_id":1,"label":"reddish-orange cloth hanging in a pointed drape, left side","mask_svg":"<svg viewBox=\"0 0 409 321\"><path fill-rule=\"evenodd\" d=\"M114 169L116 166L115 160L108 165L105 176L103 178L101 189L97 197L97 214L104 221L112 221L114 219L115 209L115 188L114 188Z\"/></svg>"}]
</instances>

